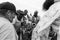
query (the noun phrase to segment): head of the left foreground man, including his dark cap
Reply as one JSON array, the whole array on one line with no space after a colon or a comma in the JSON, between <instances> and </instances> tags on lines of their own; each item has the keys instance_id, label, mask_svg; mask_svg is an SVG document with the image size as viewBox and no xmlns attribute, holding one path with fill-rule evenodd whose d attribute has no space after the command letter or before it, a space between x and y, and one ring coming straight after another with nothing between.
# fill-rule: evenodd
<instances>
[{"instance_id":1,"label":"head of the left foreground man, including his dark cap","mask_svg":"<svg viewBox=\"0 0 60 40\"><path fill-rule=\"evenodd\" d=\"M16 14L16 7L10 2L3 2L0 4L0 15L7 18L10 22L13 21L13 18Z\"/></svg>"}]
</instances>

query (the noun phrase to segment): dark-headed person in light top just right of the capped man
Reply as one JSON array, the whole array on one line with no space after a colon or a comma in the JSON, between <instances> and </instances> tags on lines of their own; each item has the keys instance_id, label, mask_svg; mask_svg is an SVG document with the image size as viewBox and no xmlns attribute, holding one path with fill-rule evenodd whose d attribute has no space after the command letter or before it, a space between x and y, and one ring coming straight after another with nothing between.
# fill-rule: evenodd
<instances>
[{"instance_id":1,"label":"dark-headed person in light top just right of the capped man","mask_svg":"<svg viewBox=\"0 0 60 40\"><path fill-rule=\"evenodd\" d=\"M22 31L21 31L21 19L23 17L22 14L23 14L23 11L17 10L17 15L13 20L13 25L18 35L18 40L22 40Z\"/></svg>"}]
</instances>

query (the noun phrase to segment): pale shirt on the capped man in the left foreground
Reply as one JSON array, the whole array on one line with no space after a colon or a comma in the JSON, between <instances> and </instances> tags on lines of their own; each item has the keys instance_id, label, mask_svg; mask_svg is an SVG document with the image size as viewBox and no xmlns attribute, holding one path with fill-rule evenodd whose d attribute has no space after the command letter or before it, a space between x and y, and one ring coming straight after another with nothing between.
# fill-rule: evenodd
<instances>
[{"instance_id":1,"label":"pale shirt on the capped man in the left foreground","mask_svg":"<svg viewBox=\"0 0 60 40\"><path fill-rule=\"evenodd\" d=\"M17 40L14 26L3 17L0 17L0 40Z\"/></svg>"}]
</instances>

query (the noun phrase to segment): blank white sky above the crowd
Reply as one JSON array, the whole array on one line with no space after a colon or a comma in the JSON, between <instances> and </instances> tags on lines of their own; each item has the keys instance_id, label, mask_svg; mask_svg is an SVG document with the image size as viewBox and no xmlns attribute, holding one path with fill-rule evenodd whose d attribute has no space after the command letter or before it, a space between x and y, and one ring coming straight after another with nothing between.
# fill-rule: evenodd
<instances>
[{"instance_id":1,"label":"blank white sky above the crowd","mask_svg":"<svg viewBox=\"0 0 60 40\"><path fill-rule=\"evenodd\" d=\"M39 15L43 15L42 10L42 4L45 0L0 0L0 3L2 2L11 2L16 6L17 10L25 10L27 9L29 14L31 13L33 15L35 10L38 10Z\"/></svg>"}]
</instances>

